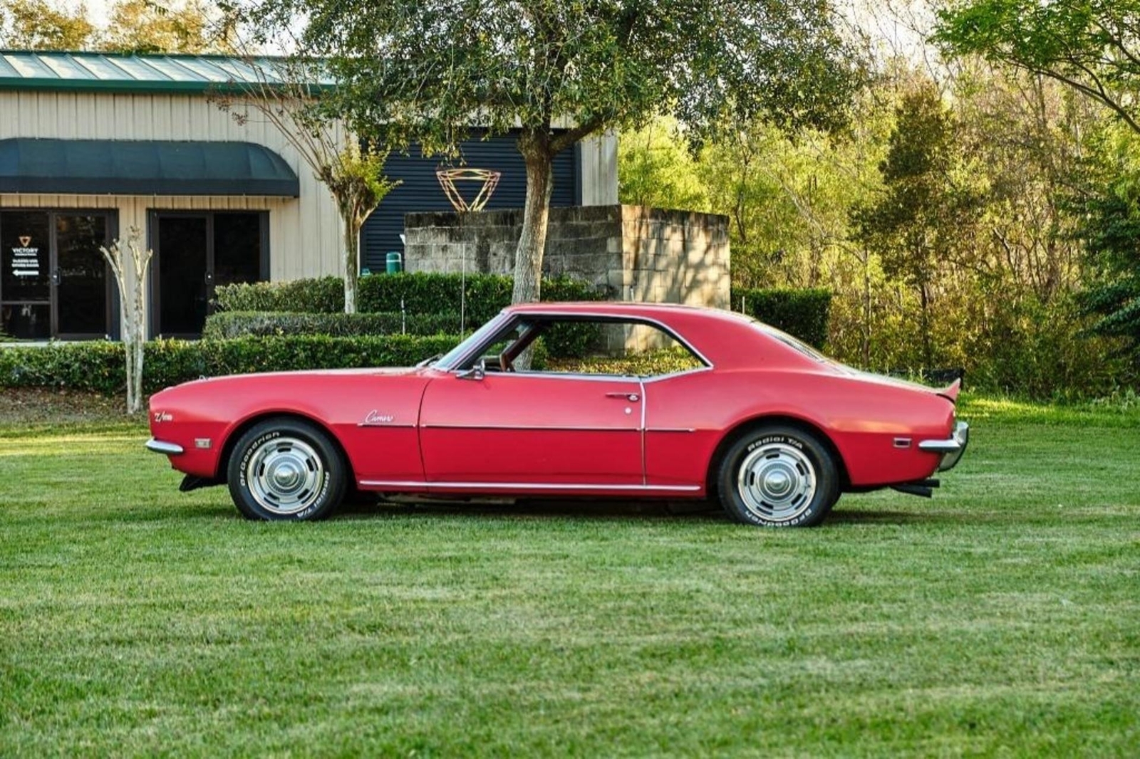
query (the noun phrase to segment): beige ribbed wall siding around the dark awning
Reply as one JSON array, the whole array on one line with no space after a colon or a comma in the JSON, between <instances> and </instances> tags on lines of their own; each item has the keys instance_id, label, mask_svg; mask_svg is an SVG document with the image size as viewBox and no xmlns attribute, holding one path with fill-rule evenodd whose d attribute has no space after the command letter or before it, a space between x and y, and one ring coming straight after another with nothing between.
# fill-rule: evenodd
<instances>
[{"instance_id":1,"label":"beige ribbed wall siding around the dark awning","mask_svg":"<svg viewBox=\"0 0 1140 759\"><path fill-rule=\"evenodd\" d=\"M341 274L340 217L332 197L276 126L256 112L239 125L202 96L0 92L0 139L9 137L264 145L296 172L300 198L0 194L0 207L114 209L121 235L131 226L146 235L150 210L269 211L272 279Z\"/></svg>"}]
</instances>

